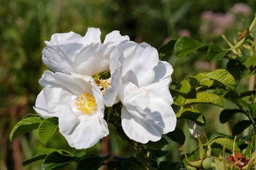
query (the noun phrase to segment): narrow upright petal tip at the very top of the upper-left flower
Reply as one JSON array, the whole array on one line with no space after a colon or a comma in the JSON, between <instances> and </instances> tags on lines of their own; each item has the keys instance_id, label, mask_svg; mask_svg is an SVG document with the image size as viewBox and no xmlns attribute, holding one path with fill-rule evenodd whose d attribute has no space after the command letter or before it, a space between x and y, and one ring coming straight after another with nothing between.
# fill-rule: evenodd
<instances>
[{"instance_id":1,"label":"narrow upright petal tip at the very top of the upper-left flower","mask_svg":"<svg viewBox=\"0 0 256 170\"><path fill-rule=\"evenodd\" d=\"M88 28L84 36L84 41L86 45L90 45L91 43L100 43L100 29L99 28Z\"/></svg>"}]
</instances>

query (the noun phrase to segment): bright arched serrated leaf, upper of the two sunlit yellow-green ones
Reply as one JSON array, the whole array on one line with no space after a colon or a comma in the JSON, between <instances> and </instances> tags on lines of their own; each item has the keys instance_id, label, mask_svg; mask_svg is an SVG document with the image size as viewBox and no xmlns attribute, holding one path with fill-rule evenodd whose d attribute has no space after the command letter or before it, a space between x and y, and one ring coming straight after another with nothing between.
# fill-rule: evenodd
<instances>
[{"instance_id":1,"label":"bright arched serrated leaf, upper of the two sunlit yellow-green ones","mask_svg":"<svg viewBox=\"0 0 256 170\"><path fill-rule=\"evenodd\" d=\"M225 69L216 69L210 73L205 73L205 77L211 80L216 80L230 88L233 88L236 85L235 78Z\"/></svg>"}]
</instances>

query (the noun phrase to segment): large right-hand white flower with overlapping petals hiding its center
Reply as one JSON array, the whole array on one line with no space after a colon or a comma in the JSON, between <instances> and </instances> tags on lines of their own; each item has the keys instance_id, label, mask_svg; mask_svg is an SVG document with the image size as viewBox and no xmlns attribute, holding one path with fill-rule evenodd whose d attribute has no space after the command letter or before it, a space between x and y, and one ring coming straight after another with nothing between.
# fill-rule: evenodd
<instances>
[{"instance_id":1,"label":"large right-hand white flower with overlapping petals hiding its center","mask_svg":"<svg viewBox=\"0 0 256 170\"><path fill-rule=\"evenodd\" d=\"M158 141L173 131L176 116L169 91L173 72L160 61L157 50L147 43L120 44L110 57L111 84L105 94L106 106L121 101L122 127L134 141Z\"/></svg>"}]
</instances>

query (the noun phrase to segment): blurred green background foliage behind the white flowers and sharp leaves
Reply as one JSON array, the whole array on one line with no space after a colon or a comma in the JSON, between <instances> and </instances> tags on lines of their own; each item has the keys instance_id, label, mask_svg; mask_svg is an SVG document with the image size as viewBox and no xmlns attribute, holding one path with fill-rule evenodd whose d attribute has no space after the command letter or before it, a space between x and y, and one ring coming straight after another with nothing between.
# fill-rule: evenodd
<instances>
[{"instance_id":1,"label":"blurred green background foliage behind the white flowers and sharp leaves","mask_svg":"<svg viewBox=\"0 0 256 170\"><path fill-rule=\"evenodd\" d=\"M156 48L180 36L225 47L220 35L237 38L237 32L251 22L255 8L255 0L0 0L0 169L40 169L40 162L21 166L22 160L44 147L36 138L36 132L21 136L13 143L8 136L21 117L35 113L32 106L41 90L38 80L47 69L42 63L42 49L52 34L74 31L83 36L88 27L99 27L102 40L108 32L118 30L133 41L145 41ZM199 53L179 60L172 56L169 61L174 67L173 81L177 82L188 74L225 67L225 60L209 63ZM247 88L247 80L243 82ZM205 113L207 122L211 122L205 127L207 135L230 134L230 126L220 125L218 120L220 108L198 107ZM179 127L186 132L183 147L191 152L195 141L183 123L179 122ZM109 128L113 129L111 125ZM100 154L101 145L86 152ZM58 132L46 147L76 152ZM130 149L115 133L110 135L109 153L129 157ZM164 150L171 152L162 160L179 160L177 144L171 142ZM72 167L74 165L67 169Z\"/></svg>"}]
</instances>

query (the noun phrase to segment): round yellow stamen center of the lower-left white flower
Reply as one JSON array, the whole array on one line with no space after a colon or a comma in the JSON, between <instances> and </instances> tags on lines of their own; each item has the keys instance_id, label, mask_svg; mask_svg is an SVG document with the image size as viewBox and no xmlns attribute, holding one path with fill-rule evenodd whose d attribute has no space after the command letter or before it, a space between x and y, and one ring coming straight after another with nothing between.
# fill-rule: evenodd
<instances>
[{"instance_id":1,"label":"round yellow stamen center of the lower-left white flower","mask_svg":"<svg viewBox=\"0 0 256 170\"><path fill-rule=\"evenodd\" d=\"M86 115L90 115L93 113L93 111L97 110L95 97L88 92L81 94L74 104L77 106L77 110Z\"/></svg>"}]
</instances>

